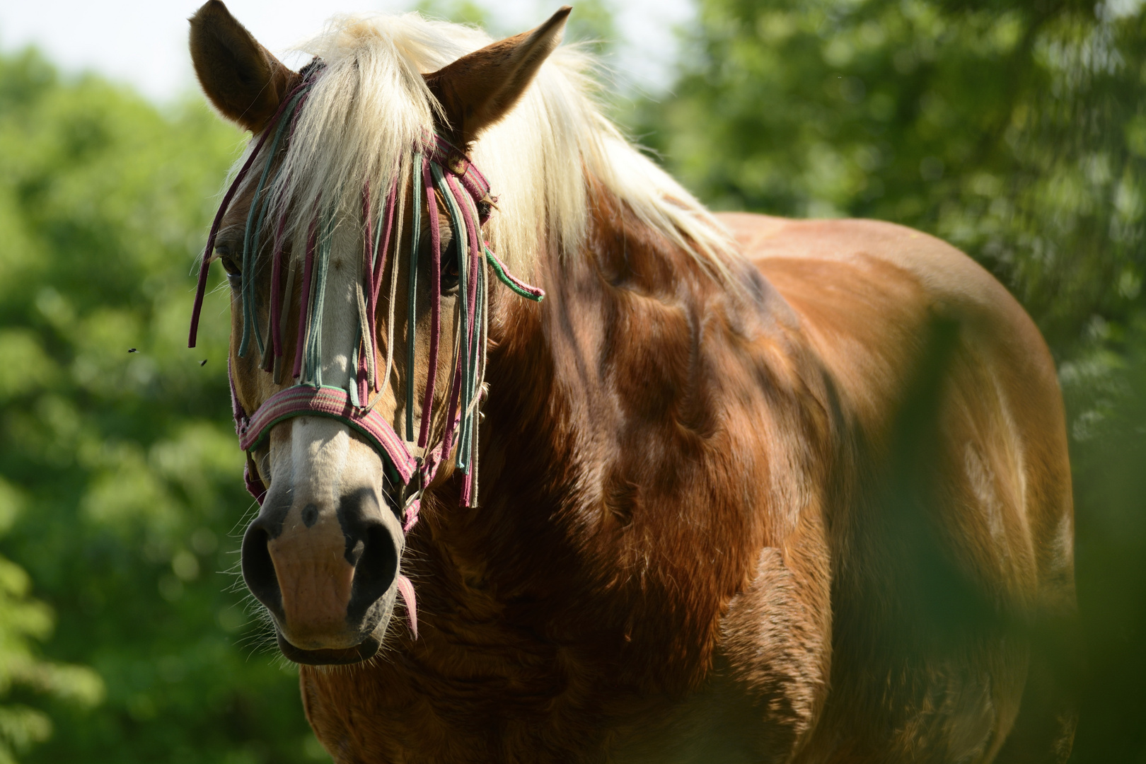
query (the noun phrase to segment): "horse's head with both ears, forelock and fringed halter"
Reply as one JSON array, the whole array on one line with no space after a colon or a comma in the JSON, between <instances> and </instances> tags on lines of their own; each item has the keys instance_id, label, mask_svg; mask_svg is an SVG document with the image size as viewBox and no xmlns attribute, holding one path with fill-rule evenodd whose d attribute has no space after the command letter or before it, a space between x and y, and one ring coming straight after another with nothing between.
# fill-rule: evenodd
<instances>
[{"instance_id":1,"label":"horse's head with both ears, forelock and fringed halter","mask_svg":"<svg viewBox=\"0 0 1146 764\"><path fill-rule=\"evenodd\" d=\"M190 19L203 90L252 134L201 294L221 261L236 424L261 503L243 577L291 660L371 657L400 591L413 599L401 559L422 490L461 470L472 501L487 263L513 282L485 245L494 199L468 156L567 14L476 52L423 52L433 71L372 55L377 39L339 39L295 72L219 0Z\"/></svg>"}]
</instances>

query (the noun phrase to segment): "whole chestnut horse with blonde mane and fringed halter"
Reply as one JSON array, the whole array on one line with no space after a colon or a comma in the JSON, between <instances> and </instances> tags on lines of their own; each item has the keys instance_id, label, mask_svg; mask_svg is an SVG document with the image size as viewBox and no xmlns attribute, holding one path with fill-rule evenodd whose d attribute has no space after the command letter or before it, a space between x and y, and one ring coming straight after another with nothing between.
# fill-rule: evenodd
<instances>
[{"instance_id":1,"label":"whole chestnut horse with blonde mane and fringed halter","mask_svg":"<svg viewBox=\"0 0 1146 764\"><path fill-rule=\"evenodd\" d=\"M1065 761L1035 324L928 235L709 213L603 116L568 14L500 41L338 17L300 71L219 0L190 19L252 136L199 279L219 260L231 294L243 576L317 739Z\"/></svg>"}]
</instances>

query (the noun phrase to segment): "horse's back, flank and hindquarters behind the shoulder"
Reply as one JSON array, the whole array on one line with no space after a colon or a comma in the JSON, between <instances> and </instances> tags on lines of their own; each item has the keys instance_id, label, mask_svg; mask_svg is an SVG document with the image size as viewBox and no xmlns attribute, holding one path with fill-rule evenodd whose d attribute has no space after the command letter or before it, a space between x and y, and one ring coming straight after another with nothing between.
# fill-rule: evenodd
<instances>
[{"instance_id":1,"label":"horse's back, flank and hindquarters behind the shoulder","mask_svg":"<svg viewBox=\"0 0 1146 764\"><path fill-rule=\"evenodd\" d=\"M834 419L832 690L804 758L1011 758L1008 734L1047 726L1020 716L1025 687L1039 690L1033 625L1069 620L1075 602L1065 413L1045 342L989 273L934 237L722 218L791 307ZM1063 724L1023 756L1061 750Z\"/></svg>"}]
</instances>

